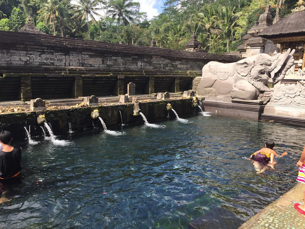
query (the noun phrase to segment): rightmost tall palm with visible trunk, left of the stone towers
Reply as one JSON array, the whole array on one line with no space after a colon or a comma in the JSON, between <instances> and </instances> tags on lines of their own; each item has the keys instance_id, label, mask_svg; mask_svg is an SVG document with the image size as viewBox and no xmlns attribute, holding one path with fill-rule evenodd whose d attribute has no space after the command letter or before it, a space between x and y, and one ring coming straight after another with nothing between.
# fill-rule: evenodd
<instances>
[{"instance_id":1,"label":"rightmost tall palm with visible trunk, left of the stone towers","mask_svg":"<svg viewBox=\"0 0 305 229\"><path fill-rule=\"evenodd\" d=\"M229 7L223 7L219 11L219 18L220 18L220 28L223 31L223 36L227 38L227 50L229 51L229 38L232 37L233 33L238 28L235 26L237 19L239 17L238 14L234 14L234 9Z\"/></svg>"}]
</instances>

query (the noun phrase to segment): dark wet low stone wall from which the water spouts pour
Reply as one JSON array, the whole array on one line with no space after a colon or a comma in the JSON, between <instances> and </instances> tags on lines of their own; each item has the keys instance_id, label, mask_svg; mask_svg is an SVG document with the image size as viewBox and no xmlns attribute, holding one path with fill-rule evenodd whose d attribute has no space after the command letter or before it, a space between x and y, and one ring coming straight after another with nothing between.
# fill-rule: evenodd
<instances>
[{"instance_id":1,"label":"dark wet low stone wall from which the water spouts pour","mask_svg":"<svg viewBox=\"0 0 305 229\"><path fill-rule=\"evenodd\" d=\"M171 119L176 118L173 112L168 112L166 110L167 103L171 103L171 106L180 117L194 115L195 111L198 113L198 108L196 108L196 110L192 108L192 98L171 99L165 102L143 102L139 103L139 107L148 122L167 120L168 115ZM36 118L40 114L45 114L46 120L51 123L55 135L68 132L69 124L73 131L83 131L86 129L93 130L93 125L102 130L103 127L101 126L100 121L91 119L90 115L94 109L99 110L100 117L104 120L108 129L117 129L120 127L120 111L124 124L134 125L144 123L143 118L140 115L133 116L134 104L126 103L121 105L102 105L98 107L65 108L59 110L0 114L0 131L8 130L13 133L14 137L25 137L26 133L24 126L28 127L31 125L31 128L35 128L36 130L36 133L33 133L32 131L32 135L42 136L42 130L36 121Z\"/></svg>"}]
</instances>

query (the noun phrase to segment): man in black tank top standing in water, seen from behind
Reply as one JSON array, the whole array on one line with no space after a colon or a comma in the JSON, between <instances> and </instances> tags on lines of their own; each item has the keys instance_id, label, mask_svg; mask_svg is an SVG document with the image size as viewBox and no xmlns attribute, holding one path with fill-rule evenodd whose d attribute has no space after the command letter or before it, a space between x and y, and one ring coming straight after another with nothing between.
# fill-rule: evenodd
<instances>
[{"instance_id":1,"label":"man in black tank top standing in water, seen from behind","mask_svg":"<svg viewBox=\"0 0 305 229\"><path fill-rule=\"evenodd\" d=\"M3 149L0 151L0 203L7 201L10 187L21 184L21 147L11 146L12 133L9 131L0 132L0 144Z\"/></svg>"}]
</instances>

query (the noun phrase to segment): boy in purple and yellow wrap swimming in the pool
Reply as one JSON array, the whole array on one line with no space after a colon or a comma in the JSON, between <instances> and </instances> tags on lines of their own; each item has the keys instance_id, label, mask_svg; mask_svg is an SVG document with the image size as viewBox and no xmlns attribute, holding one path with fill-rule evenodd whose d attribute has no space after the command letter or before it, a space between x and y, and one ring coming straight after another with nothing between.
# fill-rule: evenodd
<instances>
[{"instance_id":1,"label":"boy in purple and yellow wrap swimming in the pool","mask_svg":"<svg viewBox=\"0 0 305 229\"><path fill-rule=\"evenodd\" d=\"M274 141L267 141L265 148L261 148L260 150L256 151L250 156L250 159L254 160L253 165L255 170L257 171L257 174L260 174L264 172L267 167L261 165L268 165L272 169L274 169L274 165L276 162L274 161L274 157L284 157L287 155L287 152L284 152L282 155L278 155L273 149L274 149Z\"/></svg>"}]
</instances>

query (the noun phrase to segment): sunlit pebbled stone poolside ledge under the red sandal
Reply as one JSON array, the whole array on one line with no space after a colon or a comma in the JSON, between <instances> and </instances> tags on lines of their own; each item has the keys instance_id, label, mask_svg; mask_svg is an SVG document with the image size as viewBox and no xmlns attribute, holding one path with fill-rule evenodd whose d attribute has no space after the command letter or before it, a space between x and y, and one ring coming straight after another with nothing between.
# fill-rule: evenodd
<instances>
[{"instance_id":1,"label":"sunlit pebbled stone poolside ledge under the red sandal","mask_svg":"<svg viewBox=\"0 0 305 229\"><path fill-rule=\"evenodd\" d=\"M305 216L294 209L303 202L304 184L297 184L238 229L304 229Z\"/></svg>"}]
</instances>

